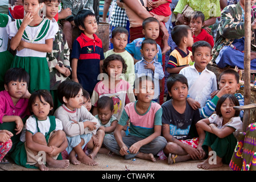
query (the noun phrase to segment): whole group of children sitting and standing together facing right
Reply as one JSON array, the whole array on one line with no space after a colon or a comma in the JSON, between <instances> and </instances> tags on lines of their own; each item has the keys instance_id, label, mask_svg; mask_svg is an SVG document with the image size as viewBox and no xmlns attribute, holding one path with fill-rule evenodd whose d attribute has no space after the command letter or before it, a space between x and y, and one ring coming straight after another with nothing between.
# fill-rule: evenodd
<instances>
[{"instance_id":1,"label":"whole group of children sitting and standing together facing right","mask_svg":"<svg viewBox=\"0 0 256 182\"><path fill-rule=\"evenodd\" d=\"M51 56L46 52L55 57L52 47L62 36L53 18L59 3L24 0L24 19L6 27L10 48L17 52L5 73L5 90L0 92L2 163L10 152L16 164L28 168L67 168L69 162L94 166L98 152L113 152L125 159L136 156L152 162L157 155L172 164L204 159L210 151L217 152L217 163L210 164L208 157L197 167L229 163L236 145L233 132L242 127L242 111L233 109L243 105L242 95L235 94L239 75L233 69L224 71L217 90L216 76L207 69L212 46L192 37L203 32L201 16L191 18L191 28L174 28L177 48L167 66L168 72L175 73L167 80L170 100L159 105L164 77L161 49L155 42L159 21L145 19L144 38L129 44L129 32L114 28L110 39L114 48L104 53L95 34L96 16L89 10L79 11L75 25L81 35L73 42L72 69L68 59L56 57L48 64L56 69L50 76ZM38 15L43 5L46 18ZM200 25L193 25L193 20ZM64 40L61 45L67 47ZM69 55L61 50L60 57ZM55 88L50 87L51 78Z\"/></svg>"}]
</instances>

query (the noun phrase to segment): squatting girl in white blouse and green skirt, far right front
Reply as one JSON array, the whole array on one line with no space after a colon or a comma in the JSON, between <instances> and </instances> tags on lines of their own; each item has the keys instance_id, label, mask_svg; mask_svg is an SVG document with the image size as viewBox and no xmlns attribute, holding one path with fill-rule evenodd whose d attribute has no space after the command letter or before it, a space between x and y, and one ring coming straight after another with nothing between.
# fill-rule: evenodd
<instances>
[{"instance_id":1,"label":"squatting girl in white blouse and green skirt, far right front","mask_svg":"<svg viewBox=\"0 0 256 182\"><path fill-rule=\"evenodd\" d=\"M239 105L233 94L225 94L217 102L216 114L197 122L197 127L206 131L203 148L209 152L208 159L198 164L198 168L211 169L230 163L237 144L234 131L242 129L240 111L233 108Z\"/></svg>"}]
</instances>

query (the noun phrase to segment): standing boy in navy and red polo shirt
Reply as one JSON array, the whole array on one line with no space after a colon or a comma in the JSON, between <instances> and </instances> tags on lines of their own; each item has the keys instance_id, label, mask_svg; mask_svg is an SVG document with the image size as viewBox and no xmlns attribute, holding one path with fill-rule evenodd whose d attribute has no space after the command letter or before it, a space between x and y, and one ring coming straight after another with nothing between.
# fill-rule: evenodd
<instances>
[{"instance_id":1,"label":"standing boy in navy and red polo shirt","mask_svg":"<svg viewBox=\"0 0 256 182\"><path fill-rule=\"evenodd\" d=\"M73 42L72 80L79 82L92 96L104 60L102 41L95 34L98 28L96 16L92 11L81 10L77 13L75 24L81 35Z\"/></svg>"}]
</instances>

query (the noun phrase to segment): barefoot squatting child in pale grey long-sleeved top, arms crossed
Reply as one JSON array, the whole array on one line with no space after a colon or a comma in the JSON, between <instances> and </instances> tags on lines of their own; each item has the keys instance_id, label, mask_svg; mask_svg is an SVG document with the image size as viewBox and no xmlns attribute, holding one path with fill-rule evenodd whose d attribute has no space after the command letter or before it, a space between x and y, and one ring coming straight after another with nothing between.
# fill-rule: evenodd
<instances>
[{"instance_id":1,"label":"barefoot squatting child in pale grey long-sleeved top, arms crossed","mask_svg":"<svg viewBox=\"0 0 256 182\"><path fill-rule=\"evenodd\" d=\"M100 123L86 108L83 106L84 97L82 94L82 86L72 80L61 82L57 89L57 96L63 104L55 111L55 117L60 119L63 124L68 139L68 147L65 152L72 164L80 163L94 166L97 163L94 161L94 156L97 152L93 152L87 156L84 152L86 147L91 150L102 144L101 138L105 133L96 135Z\"/></svg>"}]
</instances>

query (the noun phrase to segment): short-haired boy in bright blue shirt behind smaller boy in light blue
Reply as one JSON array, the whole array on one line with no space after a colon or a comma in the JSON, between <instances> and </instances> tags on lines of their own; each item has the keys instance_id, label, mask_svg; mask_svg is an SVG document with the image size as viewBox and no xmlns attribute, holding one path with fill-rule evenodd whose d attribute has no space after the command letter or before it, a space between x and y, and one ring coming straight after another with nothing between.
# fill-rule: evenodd
<instances>
[{"instance_id":1,"label":"short-haired boy in bright blue shirt behind smaller boy in light blue","mask_svg":"<svg viewBox=\"0 0 256 182\"><path fill-rule=\"evenodd\" d=\"M157 39L159 36L159 30L160 30L159 21L153 17L149 17L143 20L142 23L142 33L145 35L144 38L138 38L135 39L133 42L127 44L126 50L134 57L134 64L137 63L139 60L142 59L141 55L141 44L144 39ZM155 59L161 65L162 62L162 50L159 45L158 46L158 54L156 55Z\"/></svg>"}]
</instances>

